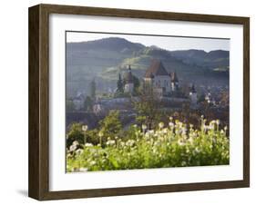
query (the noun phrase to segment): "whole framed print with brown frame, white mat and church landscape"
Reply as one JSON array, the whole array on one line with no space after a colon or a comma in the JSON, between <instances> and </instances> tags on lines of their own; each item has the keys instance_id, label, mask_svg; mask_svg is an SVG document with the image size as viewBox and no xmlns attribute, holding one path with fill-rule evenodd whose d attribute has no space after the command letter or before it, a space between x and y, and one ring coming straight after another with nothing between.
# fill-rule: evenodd
<instances>
[{"instance_id":1,"label":"whole framed print with brown frame, white mat and church landscape","mask_svg":"<svg viewBox=\"0 0 256 205\"><path fill-rule=\"evenodd\" d=\"M250 19L29 8L29 196L250 185Z\"/></svg>"}]
</instances>

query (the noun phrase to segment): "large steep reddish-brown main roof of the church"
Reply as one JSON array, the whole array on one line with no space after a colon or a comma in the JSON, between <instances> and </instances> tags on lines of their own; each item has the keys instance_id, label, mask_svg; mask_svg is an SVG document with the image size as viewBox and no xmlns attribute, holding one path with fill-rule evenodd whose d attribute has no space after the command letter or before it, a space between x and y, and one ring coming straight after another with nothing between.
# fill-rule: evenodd
<instances>
[{"instance_id":1,"label":"large steep reddish-brown main roof of the church","mask_svg":"<svg viewBox=\"0 0 256 205\"><path fill-rule=\"evenodd\" d=\"M163 64L158 60L153 60L145 74L146 78L151 78L156 75L169 75Z\"/></svg>"}]
</instances>

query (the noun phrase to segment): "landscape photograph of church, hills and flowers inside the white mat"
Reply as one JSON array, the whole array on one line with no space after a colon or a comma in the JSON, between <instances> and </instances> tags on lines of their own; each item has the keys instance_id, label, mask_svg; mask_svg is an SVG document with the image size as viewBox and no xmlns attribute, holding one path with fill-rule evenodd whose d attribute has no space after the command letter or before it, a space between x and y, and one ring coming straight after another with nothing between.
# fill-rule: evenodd
<instances>
[{"instance_id":1,"label":"landscape photograph of church, hills and flowers inside the white mat","mask_svg":"<svg viewBox=\"0 0 256 205\"><path fill-rule=\"evenodd\" d=\"M230 39L66 31L66 171L230 164Z\"/></svg>"}]
</instances>

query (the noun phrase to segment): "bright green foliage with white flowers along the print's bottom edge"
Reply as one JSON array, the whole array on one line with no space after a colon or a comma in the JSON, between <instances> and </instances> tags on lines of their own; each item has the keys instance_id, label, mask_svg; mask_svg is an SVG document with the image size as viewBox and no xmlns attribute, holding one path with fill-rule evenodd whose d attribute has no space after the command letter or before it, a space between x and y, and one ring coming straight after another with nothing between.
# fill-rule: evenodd
<instances>
[{"instance_id":1,"label":"bright green foliage with white flowers along the print's bottom edge","mask_svg":"<svg viewBox=\"0 0 256 205\"><path fill-rule=\"evenodd\" d=\"M104 144L80 144L75 141L67 149L67 171L112 171L229 164L227 128L220 122L201 119L200 130L192 124L170 118L169 126L159 122L156 130L130 128L130 138L110 139ZM103 132L98 132L103 137ZM127 139L127 140L126 140Z\"/></svg>"}]
</instances>

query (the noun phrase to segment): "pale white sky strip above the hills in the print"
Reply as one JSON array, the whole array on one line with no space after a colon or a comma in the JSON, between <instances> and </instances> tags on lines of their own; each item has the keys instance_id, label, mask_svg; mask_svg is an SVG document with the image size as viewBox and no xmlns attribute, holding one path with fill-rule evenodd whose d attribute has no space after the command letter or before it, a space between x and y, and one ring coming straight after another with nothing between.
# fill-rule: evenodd
<instances>
[{"instance_id":1,"label":"pale white sky strip above the hills in the print","mask_svg":"<svg viewBox=\"0 0 256 205\"><path fill-rule=\"evenodd\" d=\"M146 46L157 45L169 51L187 49L199 49L206 52L219 49L230 50L230 40L228 39L67 32L67 42L87 42L108 37L125 38L132 43Z\"/></svg>"}]
</instances>

